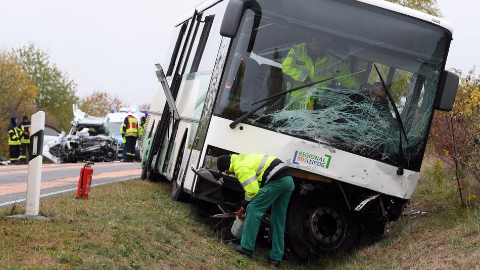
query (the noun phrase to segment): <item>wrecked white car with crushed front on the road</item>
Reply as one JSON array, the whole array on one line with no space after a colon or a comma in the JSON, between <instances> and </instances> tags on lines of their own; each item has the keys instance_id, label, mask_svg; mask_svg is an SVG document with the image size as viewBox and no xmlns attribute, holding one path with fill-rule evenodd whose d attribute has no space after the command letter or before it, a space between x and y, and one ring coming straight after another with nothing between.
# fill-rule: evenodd
<instances>
[{"instance_id":1,"label":"wrecked white car with crushed front on the road","mask_svg":"<svg viewBox=\"0 0 480 270\"><path fill-rule=\"evenodd\" d=\"M116 160L118 143L110 134L108 118L88 116L75 106L73 109L70 132L62 131L56 140L47 143L43 156L55 163Z\"/></svg>"}]
</instances>

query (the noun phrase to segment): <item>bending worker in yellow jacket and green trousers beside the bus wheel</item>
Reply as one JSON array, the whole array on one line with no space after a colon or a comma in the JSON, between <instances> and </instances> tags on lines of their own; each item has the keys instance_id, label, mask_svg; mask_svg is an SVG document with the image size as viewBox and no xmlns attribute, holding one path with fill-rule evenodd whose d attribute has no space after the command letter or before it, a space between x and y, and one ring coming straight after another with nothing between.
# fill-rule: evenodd
<instances>
[{"instance_id":1,"label":"bending worker in yellow jacket and green trousers beside the bus wheel","mask_svg":"<svg viewBox=\"0 0 480 270\"><path fill-rule=\"evenodd\" d=\"M217 159L217 168L227 174L234 173L245 190L242 208L237 217L246 218L241 245L230 242L236 251L252 256L260 221L265 211L272 206L272 249L268 262L279 266L283 257L283 234L286 209L295 189L289 167L275 156L264 154L222 155Z\"/></svg>"}]
</instances>

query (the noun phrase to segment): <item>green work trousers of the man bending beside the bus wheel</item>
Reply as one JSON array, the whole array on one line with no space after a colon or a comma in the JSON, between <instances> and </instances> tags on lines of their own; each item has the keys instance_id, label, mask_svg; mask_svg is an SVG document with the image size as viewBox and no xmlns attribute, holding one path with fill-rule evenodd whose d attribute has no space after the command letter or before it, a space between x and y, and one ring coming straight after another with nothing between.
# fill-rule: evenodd
<instances>
[{"instance_id":1,"label":"green work trousers of the man bending beside the bus wheel","mask_svg":"<svg viewBox=\"0 0 480 270\"><path fill-rule=\"evenodd\" d=\"M270 224L272 227L272 249L270 259L281 260L283 257L283 233L285 232L286 208L295 189L292 176L268 182L247 206L246 221L242 235L242 247L254 250L260 221L265 211L272 206Z\"/></svg>"}]
</instances>

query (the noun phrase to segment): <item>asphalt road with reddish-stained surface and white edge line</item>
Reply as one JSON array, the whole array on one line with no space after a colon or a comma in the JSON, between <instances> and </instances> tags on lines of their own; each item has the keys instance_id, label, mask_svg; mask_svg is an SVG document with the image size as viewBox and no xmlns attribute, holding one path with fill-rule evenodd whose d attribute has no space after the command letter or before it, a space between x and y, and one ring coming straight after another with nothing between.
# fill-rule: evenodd
<instances>
[{"instance_id":1,"label":"asphalt road with reddish-stained surface and white edge line","mask_svg":"<svg viewBox=\"0 0 480 270\"><path fill-rule=\"evenodd\" d=\"M40 197L74 193L82 163L44 164L41 174ZM140 177L140 163L105 162L93 166L92 186ZM27 190L28 165L0 166L0 207L24 203ZM91 192L94 192L92 189Z\"/></svg>"}]
</instances>

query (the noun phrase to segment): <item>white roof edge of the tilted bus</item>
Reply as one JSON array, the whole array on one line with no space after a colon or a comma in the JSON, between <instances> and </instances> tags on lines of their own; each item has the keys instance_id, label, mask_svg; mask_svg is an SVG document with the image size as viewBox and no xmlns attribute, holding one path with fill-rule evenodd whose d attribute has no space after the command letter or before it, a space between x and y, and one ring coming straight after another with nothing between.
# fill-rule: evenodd
<instances>
[{"instance_id":1,"label":"white roof edge of the tilted bus","mask_svg":"<svg viewBox=\"0 0 480 270\"><path fill-rule=\"evenodd\" d=\"M206 10L206 9L210 8L211 6L217 4L218 2L221 2L221 1L228 1L228 0L205 0L205 1L202 1L200 4L198 4L196 9L197 9L197 11L203 11L203 10ZM405 14L405 15L410 16L410 17L414 17L414 18L417 18L417 19L420 19L420 20L423 20L423 21L426 21L426 22L429 22L429 23L432 23L432 24L439 25L439 26L447 29L448 31L450 31L450 33L453 36L452 25L444 19L432 16L432 15L429 15L429 14L426 14L426 13L423 13L423 12L420 12L420 11L417 11L417 10L413 10L413 9L410 9L410 8L407 8L407 7L404 7L404 6L400 6L398 4L387 2L385 0L356 0L356 1L368 4L368 5L376 6L376 7L379 7L379 8L391 10L391 11L394 11L394 12L397 12L397 13ZM182 18L182 20L179 21L178 23L176 23L175 26L177 26L177 25L183 23L184 21L190 19L192 15L193 15L193 12L190 12L188 15L180 17L180 18Z\"/></svg>"}]
</instances>

